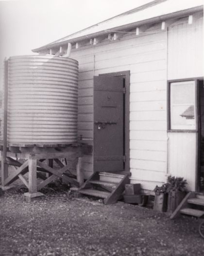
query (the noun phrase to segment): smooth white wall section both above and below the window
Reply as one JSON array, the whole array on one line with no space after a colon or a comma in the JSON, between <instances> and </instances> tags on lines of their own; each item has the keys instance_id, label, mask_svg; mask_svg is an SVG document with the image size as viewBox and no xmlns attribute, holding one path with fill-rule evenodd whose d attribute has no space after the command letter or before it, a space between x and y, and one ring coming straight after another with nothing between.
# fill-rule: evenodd
<instances>
[{"instance_id":1,"label":"smooth white wall section both above and below the window","mask_svg":"<svg viewBox=\"0 0 204 256\"><path fill-rule=\"evenodd\" d=\"M204 76L203 17L193 15L193 23L182 19L172 24L168 34L168 79ZM187 179L188 189L195 191L197 134L169 133L169 174Z\"/></svg>"}]
</instances>

